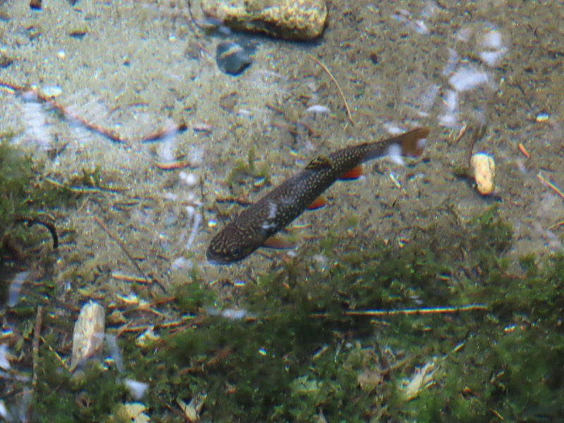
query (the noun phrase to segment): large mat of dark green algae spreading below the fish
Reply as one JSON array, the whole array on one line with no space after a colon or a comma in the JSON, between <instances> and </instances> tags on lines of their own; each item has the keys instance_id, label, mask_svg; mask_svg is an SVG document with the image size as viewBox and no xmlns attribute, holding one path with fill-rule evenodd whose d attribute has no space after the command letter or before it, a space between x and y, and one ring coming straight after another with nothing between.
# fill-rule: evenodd
<instances>
[{"instance_id":1,"label":"large mat of dark green algae spreading below the fish","mask_svg":"<svg viewBox=\"0 0 564 423\"><path fill-rule=\"evenodd\" d=\"M414 228L403 247L330 233L312 247L324 264L296 257L237 288L236 303L248 312L240 320L206 311L233 304L193 269L161 309L184 322L180 331L156 329L159 338L145 346L138 333L124 332L124 373L112 362L92 363L78 380L59 360L69 354L61 336L68 339L73 319L56 317L56 287L45 282L41 298L52 300L42 302L44 314L52 318L44 323L32 410L38 421L102 421L131 400L123 386L130 378L149 384L142 403L163 422L183 422L176 400L196 396L206 398L202 421L558 419L564 255L541 263L522 257L522 272L512 273L512 233L495 207L467 223ZM28 369L34 298L6 314L27 334L17 351ZM487 309L345 314L469 303ZM429 362L433 383L407 398L403 386Z\"/></svg>"}]
</instances>

